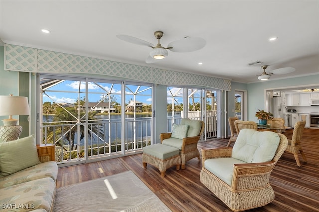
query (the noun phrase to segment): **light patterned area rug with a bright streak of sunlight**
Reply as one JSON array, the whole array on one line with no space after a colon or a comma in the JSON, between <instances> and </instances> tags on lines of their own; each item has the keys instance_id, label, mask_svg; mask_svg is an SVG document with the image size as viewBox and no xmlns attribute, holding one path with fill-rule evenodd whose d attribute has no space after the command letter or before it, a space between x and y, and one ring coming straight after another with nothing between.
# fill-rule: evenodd
<instances>
[{"instance_id":1,"label":"light patterned area rug with a bright streak of sunlight","mask_svg":"<svg viewBox=\"0 0 319 212\"><path fill-rule=\"evenodd\" d=\"M132 172L56 189L54 212L171 212Z\"/></svg>"}]
</instances>

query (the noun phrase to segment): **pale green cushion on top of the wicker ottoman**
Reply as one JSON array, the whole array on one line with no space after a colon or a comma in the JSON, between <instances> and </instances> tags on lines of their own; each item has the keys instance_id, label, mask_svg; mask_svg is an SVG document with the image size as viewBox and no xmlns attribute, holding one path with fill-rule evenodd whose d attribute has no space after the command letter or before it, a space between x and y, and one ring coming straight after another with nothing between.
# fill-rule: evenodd
<instances>
[{"instance_id":1,"label":"pale green cushion on top of the wicker ottoman","mask_svg":"<svg viewBox=\"0 0 319 212\"><path fill-rule=\"evenodd\" d=\"M161 160L165 160L167 158L171 158L175 155L178 155L179 149L172 146L166 146L166 145L162 145L158 143L158 144L144 147L143 153L152 155Z\"/></svg>"}]
</instances>

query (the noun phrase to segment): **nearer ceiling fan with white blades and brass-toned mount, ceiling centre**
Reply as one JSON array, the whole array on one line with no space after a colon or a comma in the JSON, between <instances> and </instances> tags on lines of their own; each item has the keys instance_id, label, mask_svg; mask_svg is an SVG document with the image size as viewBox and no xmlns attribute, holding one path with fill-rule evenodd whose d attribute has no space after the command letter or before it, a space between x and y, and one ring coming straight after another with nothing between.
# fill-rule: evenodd
<instances>
[{"instance_id":1,"label":"nearer ceiling fan with white blades and brass-toned mount, ceiling centre","mask_svg":"<svg viewBox=\"0 0 319 212\"><path fill-rule=\"evenodd\" d=\"M158 43L155 46L152 43L129 35L116 35L116 37L129 43L151 47L152 50L145 60L146 63L155 63L158 60L164 59L168 56L167 49L172 52L192 52L197 51L206 45L206 41L203 38L186 36L180 40L169 43L167 48L165 48L160 44L160 39L163 35L164 32L162 31L154 32L154 36L158 40Z\"/></svg>"}]
</instances>

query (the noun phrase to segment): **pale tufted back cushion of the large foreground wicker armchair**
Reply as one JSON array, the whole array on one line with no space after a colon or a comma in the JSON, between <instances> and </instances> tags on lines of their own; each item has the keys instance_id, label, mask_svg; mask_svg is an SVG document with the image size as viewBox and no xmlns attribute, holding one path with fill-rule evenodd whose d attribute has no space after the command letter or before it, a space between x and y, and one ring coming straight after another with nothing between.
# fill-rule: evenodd
<instances>
[{"instance_id":1,"label":"pale tufted back cushion of the large foreground wicker armchair","mask_svg":"<svg viewBox=\"0 0 319 212\"><path fill-rule=\"evenodd\" d=\"M232 150L232 157L246 163L271 161L280 141L275 132L242 129Z\"/></svg>"}]
</instances>

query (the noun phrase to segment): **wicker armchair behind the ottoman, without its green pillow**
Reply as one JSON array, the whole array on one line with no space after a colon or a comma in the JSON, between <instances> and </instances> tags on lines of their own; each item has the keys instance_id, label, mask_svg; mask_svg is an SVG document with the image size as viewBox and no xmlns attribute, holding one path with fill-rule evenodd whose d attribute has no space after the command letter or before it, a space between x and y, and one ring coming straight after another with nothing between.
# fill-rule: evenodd
<instances>
[{"instance_id":1,"label":"wicker armchair behind the ottoman, without its green pillow","mask_svg":"<svg viewBox=\"0 0 319 212\"><path fill-rule=\"evenodd\" d=\"M188 121L196 121L199 120L190 120L190 119L182 119L181 125L187 123ZM197 149L197 143L200 139L201 134L204 131L205 123L203 121L199 121L201 123L200 132L197 136L185 137L183 139L175 139L171 138L172 133L161 133L160 140L163 145L169 145L173 147L177 147L180 150L181 157L181 169L185 169L185 164L188 160L197 157L200 161L200 154ZM177 142L176 142L177 141ZM179 145L181 143L181 145Z\"/></svg>"}]
</instances>

